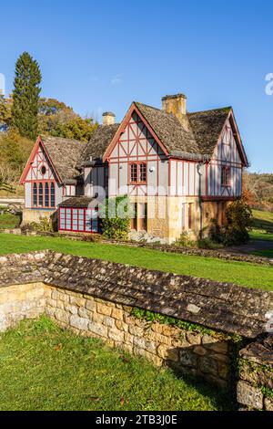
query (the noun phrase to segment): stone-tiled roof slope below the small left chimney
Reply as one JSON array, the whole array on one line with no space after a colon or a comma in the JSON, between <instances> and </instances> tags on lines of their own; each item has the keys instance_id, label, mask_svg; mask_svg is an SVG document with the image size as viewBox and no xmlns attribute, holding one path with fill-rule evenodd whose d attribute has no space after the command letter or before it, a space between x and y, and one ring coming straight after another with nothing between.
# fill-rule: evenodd
<instances>
[{"instance_id":1,"label":"stone-tiled roof slope below the small left chimney","mask_svg":"<svg viewBox=\"0 0 273 429\"><path fill-rule=\"evenodd\" d=\"M93 160L101 159L106 152L107 147L114 139L119 124L99 125L93 132L91 140L86 144L86 148L81 154L78 166Z\"/></svg>"}]
</instances>

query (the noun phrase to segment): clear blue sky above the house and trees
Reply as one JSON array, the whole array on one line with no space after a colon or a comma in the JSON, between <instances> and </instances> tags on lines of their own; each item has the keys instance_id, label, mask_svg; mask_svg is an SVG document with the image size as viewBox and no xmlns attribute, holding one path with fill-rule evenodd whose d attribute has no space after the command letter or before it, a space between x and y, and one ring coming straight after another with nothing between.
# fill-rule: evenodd
<instances>
[{"instance_id":1,"label":"clear blue sky above the house and trees","mask_svg":"<svg viewBox=\"0 0 273 429\"><path fill-rule=\"evenodd\" d=\"M1 2L0 73L13 87L23 51L45 97L121 120L132 100L157 107L184 92L188 110L232 105L251 171L273 173L273 3L269 0Z\"/></svg>"}]
</instances>

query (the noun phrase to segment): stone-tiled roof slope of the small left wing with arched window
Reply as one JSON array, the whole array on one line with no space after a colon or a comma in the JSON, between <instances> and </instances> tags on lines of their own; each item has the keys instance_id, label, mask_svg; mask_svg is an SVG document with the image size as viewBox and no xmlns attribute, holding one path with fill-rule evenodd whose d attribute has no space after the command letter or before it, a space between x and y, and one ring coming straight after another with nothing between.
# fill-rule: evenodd
<instances>
[{"instance_id":1,"label":"stone-tiled roof slope of the small left wing with arched window","mask_svg":"<svg viewBox=\"0 0 273 429\"><path fill-rule=\"evenodd\" d=\"M51 136L41 136L41 140L61 181L66 183L75 179L79 175L76 164L87 143Z\"/></svg>"}]
</instances>

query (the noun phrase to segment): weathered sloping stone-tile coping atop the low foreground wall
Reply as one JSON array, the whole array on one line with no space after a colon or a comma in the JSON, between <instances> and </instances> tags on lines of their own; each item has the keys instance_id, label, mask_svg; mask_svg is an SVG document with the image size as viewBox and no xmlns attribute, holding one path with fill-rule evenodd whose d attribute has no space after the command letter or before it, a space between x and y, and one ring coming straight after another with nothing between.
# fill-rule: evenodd
<instances>
[{"instance_id":1,"label":"weathered sloping stone-tile coping atop the low foreground wall","mask_svg":"<svg viewBox=\"0 0 273 429\"><path fill-rule=\"evenodd\" d=\"M266 330L273 309L273 292L231 283L49 250L0 256L0 287L37 281L250 339Z\"/></svg>"}]
</instances>

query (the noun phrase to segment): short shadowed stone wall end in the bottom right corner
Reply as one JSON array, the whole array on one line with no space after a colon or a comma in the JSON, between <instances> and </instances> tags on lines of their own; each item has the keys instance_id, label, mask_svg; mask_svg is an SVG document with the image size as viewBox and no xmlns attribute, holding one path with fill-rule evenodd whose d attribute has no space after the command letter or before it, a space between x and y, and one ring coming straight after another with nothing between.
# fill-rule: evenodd
<instances>
[{"instance_id":1,"label":"short shadowed stone wall end in the bottom right corner","mask_svg":"<svg viewBox=\"0 0 273 429\"><path fill-rule=\"evenodd\" d=\"M239 354L238 403L250 410L273 411L273 334Z\"/></svg>"}]
</instances>

